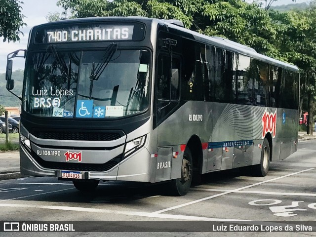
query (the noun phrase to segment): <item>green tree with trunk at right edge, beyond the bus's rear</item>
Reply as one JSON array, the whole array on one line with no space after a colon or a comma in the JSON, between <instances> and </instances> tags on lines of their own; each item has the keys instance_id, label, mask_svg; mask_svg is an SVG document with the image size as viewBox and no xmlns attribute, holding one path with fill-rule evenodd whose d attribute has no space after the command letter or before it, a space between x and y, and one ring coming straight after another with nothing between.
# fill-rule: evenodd
<instances>
[{"instance_id":1,"label":"green tree with trunk at right edge, beyond the bus's rear","mask_svg":"<svg viewBox=\"0 0 316 237\"><path fill-rule=\"evenodd\" d=\"M307 100L309 113L308 134L313 134L314 101L316 96L316 6L311 4L308 9L289 12L269 11L276 25L277 39L275 45L282 52L284 60L300 68L301 98Z\"/></svg>"}]
</instances>

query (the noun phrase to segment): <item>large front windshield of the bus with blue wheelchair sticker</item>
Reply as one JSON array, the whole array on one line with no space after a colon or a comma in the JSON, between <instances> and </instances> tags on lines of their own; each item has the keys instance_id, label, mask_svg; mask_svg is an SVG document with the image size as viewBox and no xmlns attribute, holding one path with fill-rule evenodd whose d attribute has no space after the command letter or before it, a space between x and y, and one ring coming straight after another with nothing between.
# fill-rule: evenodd
<instances>
[{"instance_id":1,"label":"large front windshield of the bus with blue wheelchair sticker","mask_svg":"<svg viewBox=\"0 0 316 237\"><path fill-rule=\"evenodd\" d=\"M31 53L26 63L23 109L40 117L109 118L149 105L150 53L119 50Z\"/></svg>"}]
</instances>

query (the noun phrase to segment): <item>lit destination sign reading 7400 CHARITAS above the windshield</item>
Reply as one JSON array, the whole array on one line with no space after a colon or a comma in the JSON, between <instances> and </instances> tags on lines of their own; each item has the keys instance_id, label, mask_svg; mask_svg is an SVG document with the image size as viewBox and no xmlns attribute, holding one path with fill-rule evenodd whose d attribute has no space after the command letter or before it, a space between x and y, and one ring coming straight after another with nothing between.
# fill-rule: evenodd
<instances>
[{"instance_id":1,"label":"lit destination sign reading 7400 CHARITAS above the windshield","mask_svg":"<svg viewBox=\"0 0 316 237\"><path fill-rule=\"evenodd\" d=\"M142 24L93 24L40 28L35 37L36 43L88 42L142 40L145 27ZM136 34L136 35L135 35Z\"/></svg>"}]
</instances>

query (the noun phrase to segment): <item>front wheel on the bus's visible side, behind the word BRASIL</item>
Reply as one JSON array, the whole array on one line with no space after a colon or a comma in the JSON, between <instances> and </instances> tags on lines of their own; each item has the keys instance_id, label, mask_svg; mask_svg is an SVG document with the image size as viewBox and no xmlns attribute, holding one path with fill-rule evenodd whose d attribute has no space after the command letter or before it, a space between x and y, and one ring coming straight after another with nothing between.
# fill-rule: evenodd
<instances>
[{"instance_id":1,"label":"front wheel on the bus's visible side, behind the word BRASIL","mask_svg":"<svg viewBox=\"0 0 316 237\"><path fill-rule=\"evenodd\" d=\"M171 195L184 196L189 192L193 175L192 166L192 154L189 147L186 147L182 158L181 178L173 179L170 182L169 191Z\"/></svg>"}]
</instances>

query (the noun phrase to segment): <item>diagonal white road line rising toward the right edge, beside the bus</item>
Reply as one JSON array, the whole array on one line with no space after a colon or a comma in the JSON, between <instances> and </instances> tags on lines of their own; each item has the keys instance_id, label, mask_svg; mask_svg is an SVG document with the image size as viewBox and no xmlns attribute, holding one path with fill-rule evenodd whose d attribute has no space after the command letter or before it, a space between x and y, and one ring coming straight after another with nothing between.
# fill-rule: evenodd
<instances>
[{"instance_id":1,"label":"diagonal white road line rising toward the right edge, beside the bus","mask_svg":"<svg viewBox=\"0 0 316 237\"><path fill-rule=\"evenodd\" d=\"M224 192L224 193L221 193L221 194L215 194L215 195L212 195L212 196L209 196L209 197L204 197L204 198L197 199L197 200L194 200L194 201L186 202L186 203L183 203L183 204L180 204L180 205L176 205L176 206L172 206L172 207L169 207L169 208L165 208L165 209L162 209L162 210L159 210L159 211L154 211L153 213L162 213L162 212L165 212L165 211L174 210L174 209L177 209L177 208L180 208L180 207L184 207L184 206L195 204L195 203L200 202L200 201L205 201L205 200L208 200L208 199L211 199L211 198L214 198L214 197L220 197L220 196L223 196L223 195L226 195L226 194L234 193L235 191L251 188L251 187L254 187L254 186L257 186L257 185L260 185L260 184L264 184L264 183L267 183L267 182L275 181L275 180L278 180L278 179L282 179L282 178L285 178L285 177L288 177L288 176L292 176L292 175L299 174L299 173L302 173L302 172L310 171L310 170L313 170L313 169L315 169L315 168L309 168L309 169L301 170L301 171L298 171L298 172L295 172L295 173L291 173L291 174L287 174L287 175L283 175L283 176L280 176L280 177L277 177L277 178L274 178L274 179L269 179L269 180L266 180L266 181L262 181L262 182L259 182L259 183L255 183L255 184L251 184L251 185L248 185L248 186L245 186L245 187L234 189L232 191L227 191L227 192Z\"/></svg>"}]
</instances>

